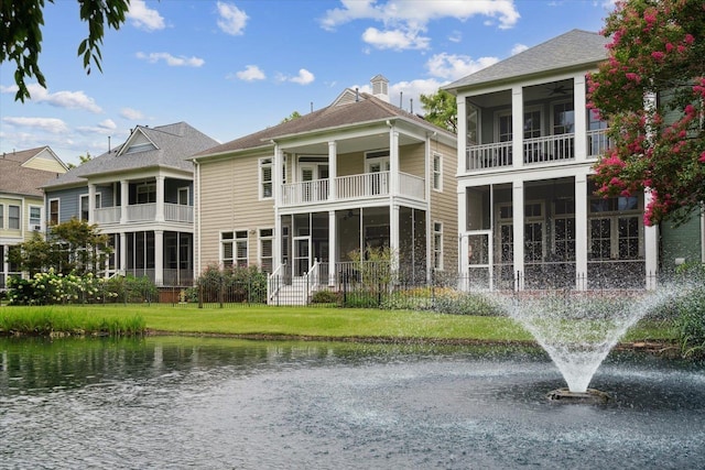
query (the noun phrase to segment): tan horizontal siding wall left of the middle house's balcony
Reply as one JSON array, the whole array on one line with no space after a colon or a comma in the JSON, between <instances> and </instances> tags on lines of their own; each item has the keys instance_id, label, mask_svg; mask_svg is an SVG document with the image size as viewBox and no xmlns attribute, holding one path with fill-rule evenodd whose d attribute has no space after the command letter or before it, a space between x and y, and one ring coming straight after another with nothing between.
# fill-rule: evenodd
<instances>
[{"instance_id":1,"label":"tan horizontal siding wall left of the middle house's balcony","mask_svg":"<svg viewBox=\"0 0 705 470\"><path fill-rule=\"evenodd\" d=\"M247 230L249 263L258 263L258 230L274 227L274 199L259 200L258 185L259 157L202 164L202 269L219 262L220 232L224 231Z\"/></svg>"}]
</instances>

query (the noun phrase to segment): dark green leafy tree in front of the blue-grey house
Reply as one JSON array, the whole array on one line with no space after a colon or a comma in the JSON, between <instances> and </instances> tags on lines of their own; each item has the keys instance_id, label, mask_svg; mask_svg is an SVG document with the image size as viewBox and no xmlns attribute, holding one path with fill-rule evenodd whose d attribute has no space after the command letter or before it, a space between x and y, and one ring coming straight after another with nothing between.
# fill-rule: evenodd
<instances>
[{"instance_id":1,"label":"dark green leafy tree in front of the blue-grey house","mask_svg":"<svg viewBox=\"0 0 705 470\"><path fill-rule=\"evenodd\" d=\"M46 239L35 232L30 240L13 247L8 258L30 275L50 269L62 274L97 273L112 252L108 241L97 225L74 218L52 226Z\"/></svg>"}]
</instances>

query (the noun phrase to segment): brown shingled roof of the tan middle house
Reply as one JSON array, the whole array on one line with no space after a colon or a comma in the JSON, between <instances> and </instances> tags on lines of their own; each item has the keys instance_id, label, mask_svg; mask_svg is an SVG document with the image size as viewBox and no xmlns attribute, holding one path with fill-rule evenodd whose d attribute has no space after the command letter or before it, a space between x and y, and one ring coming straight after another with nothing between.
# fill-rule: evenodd
<instances>
[{"instance_id":1,"label":"brown shingled roof of the tan middle house","mask_svg":"<svg viewBox=\"0 0 705 470\"><path fill-rule=\"evenodd\" d=\"M355 90L346 89L338 96L333 105L326 108L208 149L193 155L193 159L262 146L273 146L271 141L283 138L326 130L334 131L346 125L351 127L369 122L384 122L389 119L403 119L429 130L454 135L445 129L438 128L419 116L406 112L370 94L358 94Z\"/></svg>"}]
</instances>

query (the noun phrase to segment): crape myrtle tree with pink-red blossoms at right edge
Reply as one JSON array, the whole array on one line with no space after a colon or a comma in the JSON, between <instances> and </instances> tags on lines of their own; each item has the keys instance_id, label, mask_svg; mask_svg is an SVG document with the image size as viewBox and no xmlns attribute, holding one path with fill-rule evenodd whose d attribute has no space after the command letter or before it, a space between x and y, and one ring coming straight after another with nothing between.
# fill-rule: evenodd
<instances>
[{"instance_id":1,"label":"crape myrtle tree with pink-red blossoms at right edge","mask_svg":"<svg viewBox=\"0 0 705 470\"><path fill-rule=\"evenodd\" d=\"M683 223L705 201L705 3L627 0L607 18L608 59L588 77L588 107L612 144L598 194L651 195L644 223Z\"/></svg>"}]
</instances>

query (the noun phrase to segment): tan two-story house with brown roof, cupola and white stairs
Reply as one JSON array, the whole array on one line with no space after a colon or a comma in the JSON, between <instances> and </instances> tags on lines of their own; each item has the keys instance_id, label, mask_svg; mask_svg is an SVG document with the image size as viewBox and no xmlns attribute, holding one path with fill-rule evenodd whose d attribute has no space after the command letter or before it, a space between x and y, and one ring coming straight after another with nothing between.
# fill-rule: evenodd
<instances>
[{"instance_id":1,"label":"tan two-story house with brown roof, cupola and white stairs","mask_svg":"<svg viewBox=\"0 0 705 470\"><path fill-rule=\"evenodd\" d=\"M389 247L404 281L457 266L456 138L373 95L192 157L196 271L259 265L282 284L337 285L351 252Z\"/></svg>"}]
</instances>

